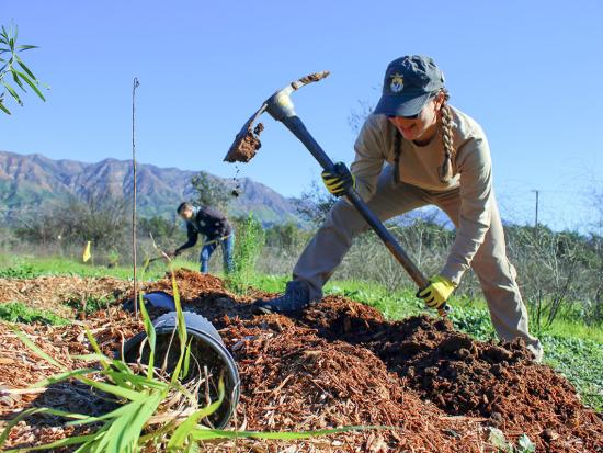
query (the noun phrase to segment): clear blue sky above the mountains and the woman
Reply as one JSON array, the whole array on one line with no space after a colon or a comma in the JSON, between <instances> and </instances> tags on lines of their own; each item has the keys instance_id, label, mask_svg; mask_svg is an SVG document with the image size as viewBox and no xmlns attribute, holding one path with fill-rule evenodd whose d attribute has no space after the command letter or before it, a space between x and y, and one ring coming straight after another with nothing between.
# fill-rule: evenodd
<instances>
[{"instance_id":1,"label":"clear blue sky above the mountains and the woman","mask_svg":"<svg viewBox=\"0 0 603 453\"><path fill-rule=\"evenodd\" d=\"M432 56L451 103L485 128L503 218L590 229L603 186L603 3L565 1L7 1L23 54L50 86L0 116L0 149L54 159L128 159L137 91L143 162L232 177L226 151L273 91L331 76L294 97L333 160L350 162L360 102L374 104L387 64ZM319 175L309 152L264 118L263 147L240 174L284 195Z\"/></svg>"}]
</instances>

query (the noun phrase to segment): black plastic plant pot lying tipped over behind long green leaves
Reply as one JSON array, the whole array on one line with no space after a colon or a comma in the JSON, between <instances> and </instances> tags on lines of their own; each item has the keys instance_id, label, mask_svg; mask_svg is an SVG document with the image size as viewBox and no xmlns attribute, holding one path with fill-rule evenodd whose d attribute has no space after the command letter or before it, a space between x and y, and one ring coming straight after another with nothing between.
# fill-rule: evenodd
<instances>
[{"instance_id":1,"label":"black plastic plant pot lying tipped over behind long green leaves","mask_svg":"<svg viewBox=\"0 0 603 453\"><path fill-rule=\"evenodd\" d=\"M198 376L200 371L203 372L204 366L207 367L212 378L212 385L209 388L211 400L214 401L218 396L218 380L221 377L225 385L225 398L218 410L207 417L208 421L215 428L224 428L230 420L237 404L239 403L240 380L239 372L235 360L224 346L221 338L216 328L206 318L195 313L183 312L184 321L186 322L186 332L189 341L192 338L191 343L191 365L189 375L183 378L183 383L191 381ZM170 373L173 371L173 366L180 356L180 342L178 339L178 332L174 332L177 328L177 313L167 313L152 321L157 336L156 340L156 354L155 366L161 366L168 354L168 367ZM173 338L172 338L173 333ZM128 363L134 363L138 360L140 353L140 343L147 335L145 332L129 339L124 344L124 359ZM171 346L170 340L172 341ZM145 343L140 362L148 363L150 348L148 343ZM200 406L205 406L204 392L200 395Z\"/></svg>"}]
</instances>

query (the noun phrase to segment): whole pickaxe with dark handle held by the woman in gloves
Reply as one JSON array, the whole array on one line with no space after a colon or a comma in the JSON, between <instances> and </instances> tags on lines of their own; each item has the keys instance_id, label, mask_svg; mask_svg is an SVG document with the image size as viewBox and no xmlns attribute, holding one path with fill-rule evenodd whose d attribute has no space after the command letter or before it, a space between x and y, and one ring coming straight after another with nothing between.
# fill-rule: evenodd
<instances>
[{"instance_id":1,"label":"whole pickaxe with dark handle held by the woman in gloves","mask_svg":"<svg viewBox=\"0 0 603 453\"><path fill-rule=\"evenodd\" d=\"M224 160L227 162L248 162L253 158L253 156L255 156L257 150L262 146L259 135L263 131L263 125L262 123L258 123L255 127L253 127L253 125L262 113L268 112L274 120L283 123L306 146L306 148L308 148L325 170L332 170L333 162L310 135L302 120L295 114L295 109L291 100L291 94L294 91L297 91L305 84L317 82L327 76L329 76L329 71L311 73L299 80L291 82L282 90L278 90L272 94L262 104L262 106L253 115L251 115L247 123L244 123L241 131L237 134L237 137L235 138L235 141L232 143L232 146L230 146L230 149ZM373 228L377 236L384 241L387 249L398 260L402 268L405 268L414 283L419 285L419 288L426 287L429 285L429 281L425 275L423 275L419 268L414 265L405 249L398 244L396 238L394 238L379 218L373 214L356 190L353 188L350 189L345 193L345 196L360 212L371 228ZM444 317L447 315L448 310L448 305L444 304L439 309L439 314Z\"/></svg>"}]
</instances>

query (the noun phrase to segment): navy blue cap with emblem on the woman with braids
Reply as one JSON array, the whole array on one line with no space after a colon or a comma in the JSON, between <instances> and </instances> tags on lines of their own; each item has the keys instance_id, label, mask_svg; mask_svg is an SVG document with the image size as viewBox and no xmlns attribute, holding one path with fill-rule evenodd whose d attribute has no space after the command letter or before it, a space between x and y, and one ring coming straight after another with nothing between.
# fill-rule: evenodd
<instances>
[{"instance_id":1,"label":"navy blue cap with emblem on the woman with braids","mask_svg":"<svg viewBox=\"0 0 603 453\"><path fill-rule=\"evenodd\" d=\"M430 57L407 55L391 61L385 71L383 94L376 114L413 116L430 97L444 88L444 75Z\"/></svg>"}]
</instances>

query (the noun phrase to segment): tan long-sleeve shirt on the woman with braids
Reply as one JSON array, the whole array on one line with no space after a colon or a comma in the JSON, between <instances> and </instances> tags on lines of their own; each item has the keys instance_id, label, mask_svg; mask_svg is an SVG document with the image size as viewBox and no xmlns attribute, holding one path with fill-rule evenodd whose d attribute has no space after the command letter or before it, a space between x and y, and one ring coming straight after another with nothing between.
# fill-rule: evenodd
<instances>
[{"instance_id":1,"label":"tan long-sleeve shirt on the woman with braids","mask_svg":"<svg viewBox=\"0 0 603 453\"><path fill-rule=\"evenodd\" d=\"M401 181L429 192L459 189L460 212L456 239L441 274L459 283L464 272L490 227L490 204L493 203L490 148L479 124L463 112L451 107L453 114L454 177L448 183L440 181L439 168L444 161L442 135L425 146L399 140L399 178ZM384 162L395 163L396 127L385 115L371 115L366 120L354 149L351 170L356 177L357 190L364 200L376 190L377 178Z\"/></svg>"}]
</instances>

